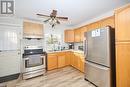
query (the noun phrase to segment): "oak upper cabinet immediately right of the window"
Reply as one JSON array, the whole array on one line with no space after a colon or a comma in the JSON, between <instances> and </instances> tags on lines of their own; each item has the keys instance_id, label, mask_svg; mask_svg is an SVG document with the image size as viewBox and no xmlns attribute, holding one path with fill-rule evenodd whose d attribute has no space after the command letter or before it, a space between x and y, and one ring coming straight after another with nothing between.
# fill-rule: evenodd
<instances>
[{"instance_id":1,"label":"oak upper cabinet immediately right of the window","mask_svg":"<svg viewBox=\"0 0 130 87\"><path fill-rule=\"evenodd\" d=\"M64 31L64 41L65 42L74 42L74 30L65 30Z\"/></svg>"}]
</instances>

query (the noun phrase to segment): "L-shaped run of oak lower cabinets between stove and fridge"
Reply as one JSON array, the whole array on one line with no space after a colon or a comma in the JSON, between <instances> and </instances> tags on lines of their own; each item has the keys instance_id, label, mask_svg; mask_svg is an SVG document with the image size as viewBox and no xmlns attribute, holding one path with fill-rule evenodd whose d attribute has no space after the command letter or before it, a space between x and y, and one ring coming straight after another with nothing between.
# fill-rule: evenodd
<instances>
[{"instance_id":1,"label":"L-shaped run of oak lower cabinets between stove and fridge","mask_svg":"<svg viewBox=\"0 0 130 87\"><path fill-rule=\"evenodd\" d=\"M77 52L56 52L49 53L47 58L47 69L53 70L71 65L74 68L84 72L83 54Z\"/></svg>"}]
</instances>

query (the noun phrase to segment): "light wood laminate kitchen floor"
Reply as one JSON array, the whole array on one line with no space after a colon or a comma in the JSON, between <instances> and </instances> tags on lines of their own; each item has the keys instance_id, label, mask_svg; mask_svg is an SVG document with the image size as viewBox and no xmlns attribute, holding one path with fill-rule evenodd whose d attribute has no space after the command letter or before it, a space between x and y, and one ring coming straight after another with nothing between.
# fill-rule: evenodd
<instances>
[{"instance_id":1,"label":"light wood laminate kitchen floor","mask_svg":"<svg viewBox=\"0 0 130 87\"><path fill-rule=\"evenodd\" d=\"M52 70L44 76L22 80L16 87L95 87L84 80L84 75L73 67Z\"/></svg>"}]
</instances>

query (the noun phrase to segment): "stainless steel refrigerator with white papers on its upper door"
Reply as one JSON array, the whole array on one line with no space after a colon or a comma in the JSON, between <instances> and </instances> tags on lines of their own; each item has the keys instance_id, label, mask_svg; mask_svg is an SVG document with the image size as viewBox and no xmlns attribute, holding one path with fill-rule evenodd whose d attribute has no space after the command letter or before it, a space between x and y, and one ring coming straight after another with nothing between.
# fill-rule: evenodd
<instances>
[{"instance_id":1,"label":"stainless steel refrigerator with white papers on its upper door","mask_svg":"<svg viewBox=\"0 0 130 87\"><path fill-rule=\"evenodd\" d=\"M115 87L114 29L104 27L85 33L85 80L97 87Z\"/></svg>"}]
</instances>

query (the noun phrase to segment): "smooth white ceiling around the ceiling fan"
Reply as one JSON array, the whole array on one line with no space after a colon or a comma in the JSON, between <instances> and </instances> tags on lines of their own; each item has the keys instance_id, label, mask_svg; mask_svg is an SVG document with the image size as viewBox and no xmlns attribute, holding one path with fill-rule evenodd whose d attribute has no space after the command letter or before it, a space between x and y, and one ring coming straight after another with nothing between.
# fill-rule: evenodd
<instances>
[{"instance_id":1,"label":"smooth white ceiling around the ceiling fan","mask_svg":"<svg viewBox=\"0 0 130 87\"><path fill-rule=\"evenodd\" d=\"M49 15L53 9L58 10L58 16L67 16L69 21L64 23L74 26L90 20L103 13L111 11L129 0L15 0L16 16L45 20L36 16L37 13Z\"/></svg>"}]
</instances>

